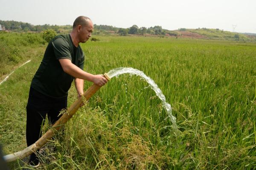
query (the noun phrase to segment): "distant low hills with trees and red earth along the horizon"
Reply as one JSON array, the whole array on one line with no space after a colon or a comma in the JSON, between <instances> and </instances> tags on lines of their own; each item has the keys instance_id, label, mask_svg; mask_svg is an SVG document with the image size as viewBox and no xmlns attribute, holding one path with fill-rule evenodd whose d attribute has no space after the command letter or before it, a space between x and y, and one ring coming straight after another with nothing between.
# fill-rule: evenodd
<instances>
[{"instance_id":1,"label":"distant low hills with trees and red earth along the horizon","mask_svg":"<svg viewBox=\"0 0 256 170\"><path fill-rule=\"evenodd\" d=\"M71 32L72 26L57 26L57 25L32 25L30 23L23 23L17 21L3 21L0 20L0 24L5 26L6 30L15 32L41 32L46 29L52 29L60 34L67 34ZM214 39L214 40L243 40L243 41L256 41L256 34L253 33L236 33L228 32L220 29L185 29L180 28L178 30L167 30L163 29L162 26L154 27L138 27L133 25L129 28L117 28L115 26L108 25L96 25L94 24L94 35L105 35L105 34L119 34L119 35L148 35L148 36L173 36L176 38L203 38L203 39Z\"/></svg>"}]
</instances>

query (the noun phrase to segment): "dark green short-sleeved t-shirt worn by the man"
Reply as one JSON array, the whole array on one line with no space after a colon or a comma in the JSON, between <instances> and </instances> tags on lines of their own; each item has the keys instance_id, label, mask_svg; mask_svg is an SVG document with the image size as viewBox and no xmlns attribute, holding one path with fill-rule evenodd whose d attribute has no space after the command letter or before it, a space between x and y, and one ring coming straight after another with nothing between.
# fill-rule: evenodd
<instances>
[{"instance_id":1,"label":"dark green short-sleeved t-shirt worn by the man","mask_svg":"<svg viewBox=\"0 0 256 170\"><path fill-rule=\"evenodd\" d=\"M48 44L31 87L52 98L67 96L74 78L65 73L58 59L67 58L80 69L84 68L84 53L76 47L70 35L57 35Z\"/></svg>"}]
</instances>

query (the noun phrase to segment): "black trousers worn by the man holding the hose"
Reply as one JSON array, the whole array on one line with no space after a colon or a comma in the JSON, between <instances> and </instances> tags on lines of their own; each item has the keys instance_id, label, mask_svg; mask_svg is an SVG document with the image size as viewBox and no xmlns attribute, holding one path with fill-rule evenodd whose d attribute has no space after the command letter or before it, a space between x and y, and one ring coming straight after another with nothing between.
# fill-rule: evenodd
<instances>
[{"instance_id":1,"label":"black trousers worn by the man holding the hose","mask_svg":"<svg viewBox=\"0 0 256 170\"><path fill-rule=\"evenodd\" d=\"M44 125L46 115L49 123L54 124L60 117L61 109L67 108L67 97L51 98L32 87L29 90L29 99L26 106L26 142L27 146L34 144L42 135L41 126ZM35 153L30 158L36 158Z\"/></svg>"}]
</instances>

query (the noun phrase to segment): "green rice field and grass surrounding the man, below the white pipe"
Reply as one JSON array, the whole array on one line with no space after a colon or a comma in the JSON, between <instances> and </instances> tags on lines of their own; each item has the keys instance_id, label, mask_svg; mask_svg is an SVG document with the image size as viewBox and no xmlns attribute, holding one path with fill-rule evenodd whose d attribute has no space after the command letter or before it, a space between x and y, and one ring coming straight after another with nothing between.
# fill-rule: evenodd
<instances>
[{"instance_id":1,"label":"green rice field and grass surrounding the man, below the white pipe","mask_svg":"<svg viewBox=\"0 0 256 170\"><path fill-rule=\"evenodd\" d=\"M81 44L93 74L133 67L173 107L175 136L160 100L137 76L120 75L67 123L41 155L44 169L253 169L256 166L256 44L218 40L96 36ZM39 50L40 51L40 50ZM26 101L42 55L0 86L5 153L26 147ZM90 86L85 83L85 89ZM69 105L76 100L74 86ZM46 128L45 128L46 130ZM20 169L16 163L12 169Z\"/></svg>"}]
</instances>

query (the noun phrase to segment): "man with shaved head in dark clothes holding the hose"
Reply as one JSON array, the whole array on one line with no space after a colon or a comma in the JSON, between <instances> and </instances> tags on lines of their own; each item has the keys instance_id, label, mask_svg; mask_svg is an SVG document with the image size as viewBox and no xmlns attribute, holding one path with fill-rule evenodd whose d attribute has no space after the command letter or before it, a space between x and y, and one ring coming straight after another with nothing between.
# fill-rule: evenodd
<instances>
[{"instance_id":1,"label":"man with shaved head in dark clothes holding the hose","mask_svg":"<svg viewBox=\"0 0 256 170\"><path fill-rule=\"evenodd\" d=\"M83 71L84 53L79 43L85 43L93 32L88 17L77 17L69 35L57 35L48 44L44 58L32 79L26 106L26 141L31 145L41 137L41 125L46 118L50 124L58 120L61 109L67 108L67 92L75 80L78 97L84 93L84 80L98 86L107 83L102 75ZM32 167L39 166L35 153L29 159Z\"/></svg>"}]
</instances>

